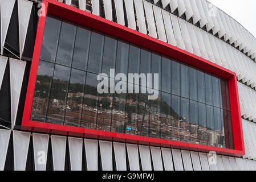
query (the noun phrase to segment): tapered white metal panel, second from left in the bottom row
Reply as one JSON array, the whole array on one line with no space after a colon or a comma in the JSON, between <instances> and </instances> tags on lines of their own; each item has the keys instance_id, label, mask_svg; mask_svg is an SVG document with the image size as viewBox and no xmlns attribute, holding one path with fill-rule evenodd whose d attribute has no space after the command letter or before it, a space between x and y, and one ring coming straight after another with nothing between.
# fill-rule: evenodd
<instances>
[{"instance_id":1,"label":"tapered white metal panel, second from left in the bottom row","mask_svg":"<svg viewBox=\"0 0 256 182\"><path fill-rule=\"evenodd\" d=\"M28 132L13 131L14 171L26 169L30 135Z\"/></svg>"}]
</instances>

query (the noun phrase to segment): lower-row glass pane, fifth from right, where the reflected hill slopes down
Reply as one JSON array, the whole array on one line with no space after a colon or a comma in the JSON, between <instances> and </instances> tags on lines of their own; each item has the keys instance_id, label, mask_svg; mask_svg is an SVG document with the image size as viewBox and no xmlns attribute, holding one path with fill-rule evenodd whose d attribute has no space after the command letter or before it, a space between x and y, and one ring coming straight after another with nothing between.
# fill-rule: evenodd
<instances>
[{"instance_id":1,"label":"lower-row glass pane, fifth from right, where the reflected hill slopes down","mask_svg":"<svg viewBox=\"0 0 256 182\"><path fill-rule=\"evenodd\" d=\"M198 139L198 102L190 100L190 142L199 143Z\"/></svg>"}]
</instances>

